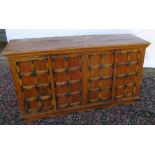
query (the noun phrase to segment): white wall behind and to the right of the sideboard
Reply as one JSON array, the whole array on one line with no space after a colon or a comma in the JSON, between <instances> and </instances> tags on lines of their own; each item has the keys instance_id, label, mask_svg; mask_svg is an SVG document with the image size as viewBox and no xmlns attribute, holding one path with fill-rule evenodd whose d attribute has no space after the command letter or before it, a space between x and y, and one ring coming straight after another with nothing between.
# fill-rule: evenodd
<instances>
[{"instance_id":1,"label":"white wall behind and to the right of the sideboard","mask_svg":"<svg viewBox=\"0 0 155 155\"><path fill-rule=\"evenodd\" d=\"M20 38L38 38L52 36L69 36L69 35L88 35L88 34L121 34L131 33L147 41L151 45L147 48L145 55L144 67L155 67L155 29L137 30L137 29L6 29L8 41Z\"/></svg>"}]
</instances>

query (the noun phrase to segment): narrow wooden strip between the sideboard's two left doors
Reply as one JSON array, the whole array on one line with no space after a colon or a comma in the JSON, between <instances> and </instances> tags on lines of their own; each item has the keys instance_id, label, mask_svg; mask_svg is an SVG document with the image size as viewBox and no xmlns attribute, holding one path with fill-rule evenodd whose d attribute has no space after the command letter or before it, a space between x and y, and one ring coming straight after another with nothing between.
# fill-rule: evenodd
<instances>
[{"instance_id":1,"label":"narrow wooden strip between the sideboard's two left doors","mask_svg":"<svg viewBox=\"0 0 155 155\"><path fill-rule=\"evenodd\" d=\"M57 106L56 106L56 99L55 99L55 86L54 86L54 75L53 75L54 65L51 61L50 55L48 55L48 63L49 63L49 76L51 80L51 95L52 95L54 111L56 111Z\"/></svg>"}]
</instances>

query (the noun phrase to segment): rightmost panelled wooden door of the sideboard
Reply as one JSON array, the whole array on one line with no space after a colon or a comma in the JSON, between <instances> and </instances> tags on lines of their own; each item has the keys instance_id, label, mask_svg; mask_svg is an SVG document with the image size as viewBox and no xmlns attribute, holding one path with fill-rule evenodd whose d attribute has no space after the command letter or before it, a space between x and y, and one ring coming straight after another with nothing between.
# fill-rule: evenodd
<instances>
[{"instance_id":1,"label":"rightmost panelled wooden door of the sideboard","mask_svg":"<svg viewBox=\"0 0 155 155\"><path fill-rule=\"evenodd\" d=\"M143 49L117 51L116 100L139 96L144 53Z\"/></svg>"}]
</instances>

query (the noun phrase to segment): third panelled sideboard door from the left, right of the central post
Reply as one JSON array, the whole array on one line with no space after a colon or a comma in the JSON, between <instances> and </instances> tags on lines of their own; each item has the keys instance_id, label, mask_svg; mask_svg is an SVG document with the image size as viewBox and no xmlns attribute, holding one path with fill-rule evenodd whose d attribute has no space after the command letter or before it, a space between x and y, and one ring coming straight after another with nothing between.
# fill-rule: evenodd
<instances>
[{"instance_id":1,"label":"third panelled sideboard door from the left, right of the central post","mask_svg":"<svg viewBox=\"0 0 155 155\"><path fill-rule=\"evenodd\" d=\"M88 103L111 102L114 52L89 54L88 66Z\"/></svg>"}]
</instances>

